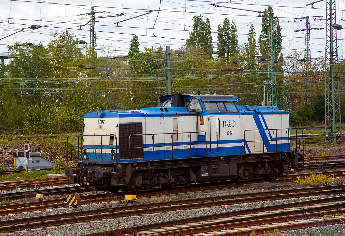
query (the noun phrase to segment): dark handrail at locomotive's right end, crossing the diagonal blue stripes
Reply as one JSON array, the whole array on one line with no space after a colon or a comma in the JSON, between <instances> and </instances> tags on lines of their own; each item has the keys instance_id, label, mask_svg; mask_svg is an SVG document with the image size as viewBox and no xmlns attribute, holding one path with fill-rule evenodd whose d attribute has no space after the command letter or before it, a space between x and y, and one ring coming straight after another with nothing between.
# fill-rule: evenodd
<instances>
[{"instance_id":1,"label":"dark handrail at locomotive's right end, crossing the diagonal blue stripes","mask_svg":"<svg viewBox=\"0 0 345 236\"><path fill-rule=\"evenodd\" d=\"M296 131L296 134L297 134L297 129L301 129L302 130L302 148L303 148L303 156L304 156L304 138L303 138L303 129L302 128L299 128L299 127L297 127L297 128L281 128L281 129L257 129L257 130L244 130L244 132L243 132L243 153L245 152L245 143L248 143L248 142L263 142L263 153L265 152L265 142L267 142L267 141L275 141L276 142L276 152L278 151L278 143L277 143L277 141L278 141L278 137L277 137L277 131L278 130L286 130L286 131L288 131L288 136L287 137L281 137L281 138L285 138L285 139L281 139L280 141L289 141L289 151L291 150L291 143L290 143L290 141L291 140L296 140L296 150L297 150L297 135L296 135L296 137L295 138L291 138L290 137L290 130L295 130ZM264 135L264 132L265 131L270 131L270 130L272 130L272 131L275 131L276 133L276 136L275 136L275 138L274 137L272 137L272 140L266 140L265 141L265 135ZM262 138L262 140L250 140L250 141L247 141L246 140L246 131L259 131L260 132L260 138ZM261 136L261 131L263 132L263 134L262 134L262 136Z\"/></svg>"}]
</instances>

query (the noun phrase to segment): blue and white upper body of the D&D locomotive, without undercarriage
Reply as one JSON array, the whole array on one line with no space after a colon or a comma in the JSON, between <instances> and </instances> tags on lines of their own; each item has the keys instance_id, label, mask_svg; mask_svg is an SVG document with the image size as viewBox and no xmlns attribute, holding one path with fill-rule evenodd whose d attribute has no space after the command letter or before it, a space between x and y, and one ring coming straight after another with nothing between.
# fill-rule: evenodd
<instances>
[{"instance_id":1,"label":"blue and white upper body of the D&D locomotive, without undercarriage","mask_svg":"<svg viewBox=\"0 0 345 236\"><path fill-rule=\"evenodd\" d=\"M150 107L85 114L83 148L87 155L82 160L120 163L290 151L287 111L276 106L237 106L234 96L183 96L184 103L198 100L202 111ZM161 102L170 101L164 97ZM209 113L204 102L210 101L234 102L237 111Z\"/></svg>"}]
</instances>

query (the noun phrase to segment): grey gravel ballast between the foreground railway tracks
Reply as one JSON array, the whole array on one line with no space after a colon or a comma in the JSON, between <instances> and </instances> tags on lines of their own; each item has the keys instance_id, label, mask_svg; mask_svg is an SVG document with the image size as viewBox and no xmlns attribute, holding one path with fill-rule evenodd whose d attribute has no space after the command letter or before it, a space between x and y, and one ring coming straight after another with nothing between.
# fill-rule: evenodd
<instances>
[{"instance_id":1,"label":"grey gravel ballast between the foreground railway tracks","mask_svg":"<svg viewBox=\"0 0 345 236\"><path fill-rule=\"evenodd\" d=\"M274 189L274 190L279 190L279 189ZM245 191L243 187L239 187L239 188L230 188L230 189L214 189L213 191L209 191L209 190L197 191L195 193L189 192L189 193L184 194L185 195L184 197L196 198L196 197L202 197L202 196L219 196L219 195L225 195L225 194L253 193L253 192L261 192L261 191L263 190L251 189L251 190ZM91 193L84 193L84 194L91 194ZM333 196L339 196L339 195L341 194L333 195ZM176 196L173 196L173 195L171 196L176 198ZM57 197L63 197L63 196L60 195ZM165 196L160 196L160 197L165 197ZM225 211L236 211L240 209L276 205L276 204L282 204L282 203L287 203L287 202L306 201L306 200L317 199L317 198L321 198L321 197L316 196L316 197L308 197L308 198L301 198L301 199L281 199L281 200L278 199L278 200L272 200L272 201L241 203L241 204L228 205L227 209L224 209L223 206L215 206L215 207L182 210L178 212L164 212L164 213L146 214L146 215L139 215L139 216L119 217L119 218L114 218L114 219L98 220L96 222L85 222L85 223L69 224L69 225L57 226L57 227L51 227L51 228L48 227L44 229L24 230L21 232L12 233L11 235L12 236L36 236L36 235L77 236L77 235L82 235L82 234L96 233L100 231L106 231L106 230L124 228L124 227L133 227L133 226L162 222L162 221L167 221L167 220L215 214L215 213L221 213ZM147 200L149 198L145 198L145 199L146 200L144 201L157 201L155 198L151 198L150 200ZM166 201L168 201L168 199L171 199L171 198L170 197L165 198ZM85 205L86 206L81 206L81 210L95 208L102 205L109 205L109 203L101 203L97 205L96 204L85 204ZM6 216L2 216L0 219L5 220L5 219L32 217L32 216L38 216L38 215L48 215L48 214L57 214L57 213L66 213L66 212L70 212L69 207L60 207L57 209L55 208L55 209L52 209L52 211L45 210L41 212L28 212L28 213L6 215ZM328 226L328 227L331 227L331 226ZM341 226L339 225L339 227L342 227L342 230L344 228L342 225ZM319 227L316 227L316 228L319 228ZM323 228L321 227L321 229ZM289 232L291 233L289 234ZM303 233L307 233L307 229L301 229L301 231L290 230L286 232L280 232L279 236L290 236L290 235L295 236L295 235L303 235ZM305 235L308 235L308 234L305 234ZM319 235L319 233L317 233L316 235Z\"/></svg>"}]
</instances>

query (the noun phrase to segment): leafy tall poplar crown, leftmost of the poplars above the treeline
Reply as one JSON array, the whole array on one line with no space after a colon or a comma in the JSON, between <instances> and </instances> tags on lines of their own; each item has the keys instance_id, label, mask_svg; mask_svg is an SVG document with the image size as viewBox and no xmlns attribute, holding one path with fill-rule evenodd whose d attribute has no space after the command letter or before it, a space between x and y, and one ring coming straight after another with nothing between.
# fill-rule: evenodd
<instances>
[{"instance_id":1,"label":"leafy tall poplar crown, leftmost of the poplars above the treeline","mask_svg":"<svg viewBox=\"0 0 345 236\"><path fill-rule=\"evenodd\" d=\"M194 21L193 30L189 33L189 38L187 39L187 45L195 45L204 49L209 57L212 57L213 45L211 37L211 25L208 18L206 22L203 16L194 16L192 18Z\"/></svg>"}]
</instances>

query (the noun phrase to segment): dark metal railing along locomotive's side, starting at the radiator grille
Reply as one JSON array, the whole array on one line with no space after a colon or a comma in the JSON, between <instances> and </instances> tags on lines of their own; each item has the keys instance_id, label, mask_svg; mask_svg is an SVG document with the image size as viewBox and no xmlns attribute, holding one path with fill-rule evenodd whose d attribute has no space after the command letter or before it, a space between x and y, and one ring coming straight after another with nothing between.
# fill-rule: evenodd
<instances>
[{"instance_id":1,"label":"dark metal railing along locomotive's side, starting at the radiator grille","mask_svg":"<svg viewBox=\"0 0 345 236\"><path fill-rule=\"evenodd\" d=\"M204 137L205 137L205 141L198 141L198 134L199 133L204 133ZM186 144L174 144L174 135L179 135L179 134L189 134L189 157L191 157L191 145L194 145L192 144L192 140L191 140L191 134L196 134L197 135L197 138L196 140L193 140L193 142L197 142L195 143L196 145L205 145L205 156L207 156L207 146L206 146L206 132L205 131L198 131L198 132L183 132L183 133L159 133L159 134L132 134L129 136L129 162L131 161L131 150L134 150L134 149L138 149L140 148L142 150L142 148L150 148L152 147L152 152L153 152L153 161L155 160L155 147L171 147L171 159L174 159L174 147L176 146L185 146ZM135 137L135 136L142 136L144 138L144 136L149 136L151 135L152 136L152 143L149 143L149 144L152 144L152 146L141 146L141 147L131 147L130 144L131 144L131 137ZM169 145L159 145L160 143L156 143L157 145L155 146L155 135L170 135L170 138L171 138L171 144ZM148 145L148 144L145 144L145 145Z\"/></svg>"}]
</instances>

